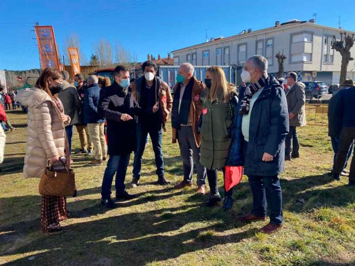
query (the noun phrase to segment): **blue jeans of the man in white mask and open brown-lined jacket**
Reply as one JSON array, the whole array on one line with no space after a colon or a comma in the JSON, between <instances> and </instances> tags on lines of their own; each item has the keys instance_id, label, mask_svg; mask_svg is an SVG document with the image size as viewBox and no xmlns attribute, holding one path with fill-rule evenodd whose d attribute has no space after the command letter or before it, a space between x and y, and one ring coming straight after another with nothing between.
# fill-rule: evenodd
<instances>
[{"instance_id":1,"label":"blue jeans of the man in white mask and open brown-lined jacket","mask_svg":"<svg viewBox=\"0 0 355 266\"><path fill-rule=\"evenodd\" d=\"M147 136L150 136L151 144L155 154L155 163L157 166L156 174L158 177L164 177L164 158L163 158L163 130L143 129L140 123L137 124L137 151L134 154L133 177L139 179L141 176L142 156L145 149Z\"/></svg>"}]
</instances>

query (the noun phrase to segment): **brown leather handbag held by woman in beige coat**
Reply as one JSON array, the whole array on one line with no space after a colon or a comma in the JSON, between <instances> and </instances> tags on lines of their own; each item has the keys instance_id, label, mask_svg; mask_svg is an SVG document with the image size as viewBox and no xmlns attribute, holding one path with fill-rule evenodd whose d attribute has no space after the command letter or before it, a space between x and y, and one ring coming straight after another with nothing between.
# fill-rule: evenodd
<instances>
[{"instance_id":1,"label":"brown leather handbag held by woman in beige coat","mask_svg":"<svg viewBox=\"0 0 355 266\"><path fill-rule=\"evenodd\" d=\"M75 187L75 174L72 169L66 167L66 157L59 158L56 165L50 165L45 169L39 181L38 191L40 195L47 196L77 196Z\"/></svg>"}]
</instances>

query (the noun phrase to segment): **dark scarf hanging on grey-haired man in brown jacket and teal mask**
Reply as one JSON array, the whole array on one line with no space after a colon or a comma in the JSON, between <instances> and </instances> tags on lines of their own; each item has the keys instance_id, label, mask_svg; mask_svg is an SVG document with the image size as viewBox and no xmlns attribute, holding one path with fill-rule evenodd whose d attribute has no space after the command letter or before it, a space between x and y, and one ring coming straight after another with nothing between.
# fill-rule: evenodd
<instances>
[{"instance_id":1,"label":"dark scarf hanging on grey-haired man in brown jacket and teal mask","mask_svg":"<svg viewBox=\"0 0 355 266\"><path fill-rule=\"evenodd\" d=\"M192 98L192 88L194 79L191 78L189 83L185 87L183 98L181 99L180 112L179 112L179 102L180 102L180 90L184 85L181 83L177 86L174 94L174 100L172 101L172 117L171 125L173 128L180 129L181 125L186 125L189 121L189 113Z\"/></svg>"}]
</instances>

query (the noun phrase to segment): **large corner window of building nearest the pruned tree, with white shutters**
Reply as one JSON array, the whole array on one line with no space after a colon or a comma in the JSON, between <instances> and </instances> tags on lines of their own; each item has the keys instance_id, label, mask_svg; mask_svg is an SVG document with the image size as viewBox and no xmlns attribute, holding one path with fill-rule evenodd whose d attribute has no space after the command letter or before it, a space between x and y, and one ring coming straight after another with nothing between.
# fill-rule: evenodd
<instances>
[{"instance_id":1,"label":"large corner window of building nearest the pruned tree, with white shutters","mask_svg":"<svg viewBox=\"0 0 355 266\"><path fill-rule=\"evenodd\" d=\"M312 62L313 33L291 34L290 63Z\"/></svg>"}]
</instances>

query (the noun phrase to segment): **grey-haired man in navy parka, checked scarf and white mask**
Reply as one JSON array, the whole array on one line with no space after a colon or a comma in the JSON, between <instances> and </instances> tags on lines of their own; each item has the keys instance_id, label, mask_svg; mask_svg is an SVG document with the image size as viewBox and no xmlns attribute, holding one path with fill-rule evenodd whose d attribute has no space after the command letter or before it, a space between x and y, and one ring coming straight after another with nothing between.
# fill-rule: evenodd
<instances>
[{"instance_id":1,"label":"grey-haired man in navy parka, checked scarf and white mask","mask_svg":"<svg viewBox=\"0 0 355 266\"><path fill-rule=\"evenodd\" d=\"M241 74L243 82L236 115L236 128L226 165L242 166L252 195L251 212L241 221L270 222L261 231L273 233L282 227L282 189L278 174L284 171L285 138L289 131L287 100L282 85L267 74L267 60L252 56Z\"/></svg>"}]
</instances>

